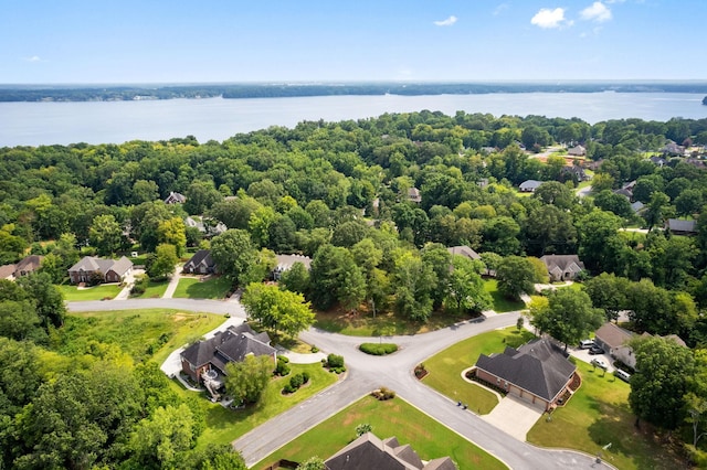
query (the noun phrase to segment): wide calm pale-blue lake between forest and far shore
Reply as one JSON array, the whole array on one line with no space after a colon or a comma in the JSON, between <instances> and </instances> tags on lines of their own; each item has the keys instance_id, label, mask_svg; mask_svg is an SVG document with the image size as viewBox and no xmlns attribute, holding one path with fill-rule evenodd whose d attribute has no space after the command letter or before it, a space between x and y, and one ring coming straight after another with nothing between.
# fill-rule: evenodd
<instances>
[{"instance_id":1,"label":"wide calm pale-blue lake between forest and far shore","mask_svg":"<svg viewBox=\"0 0 707 470\"><path fill-rule=\"evenodd\" d=\"M0 147L123 143L196 136L222 141L270 126L338 121L429 109L502 115L606 119L707 117L704 95L680 93L518 93L436 96L321 96L255 99L0 103Z\"/></svg>"}]
</instances>

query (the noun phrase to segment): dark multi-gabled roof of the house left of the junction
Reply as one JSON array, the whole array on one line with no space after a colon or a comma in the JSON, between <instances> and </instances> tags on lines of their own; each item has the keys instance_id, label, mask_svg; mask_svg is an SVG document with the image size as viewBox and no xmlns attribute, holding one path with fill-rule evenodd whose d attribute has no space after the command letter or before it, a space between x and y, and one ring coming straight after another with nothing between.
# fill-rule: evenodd
<instances>
[{"instance_id":1,"label":"dark multi-gabled roof of the house left of the junction","mask_svg":"<svg viewBox=\"0 0 707 470\"><path fill-rule=\"evenodd\" d=\"M255 333L247 323L229 327L219 331L210 340L199 341L182 351L181 356L194 367L211 363L225 373L225 364L241 362L249 354L271 355L275 348L271 346L267 333Z\"/></svg>"}]
</instances>

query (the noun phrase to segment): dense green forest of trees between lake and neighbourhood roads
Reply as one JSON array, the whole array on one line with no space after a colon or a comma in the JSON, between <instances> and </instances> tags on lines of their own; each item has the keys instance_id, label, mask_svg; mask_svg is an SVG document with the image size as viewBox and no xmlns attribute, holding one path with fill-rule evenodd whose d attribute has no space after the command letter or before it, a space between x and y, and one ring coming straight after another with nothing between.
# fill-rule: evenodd
<instances>
[{"instance_id":1,"label":"dense green forest of trees between lake and neighbourhood roads","mask_svg":"<svg viewBox=\"0 0 707 470\"><path fill-rule=\"evenodd\" d=\"M568 157L580 143L585 156ZM0 264L44 255L39 275L0 282L0 356L9 357L0 361L3 464L217 468L219 459L236 459L223 449L191 450L197 408L163 396L166 378L149 363L124 367L120 354L97 343L68 356L80 366L50 367L65 318L52 284L64 281L82 254L152 254L169 244L183 256L187 246L211 247L238 285L262 280L273 252L305 254L312 270L293 269L282 285L317 309L386 311L416 322L488 307L488 270L514 297L547 276L534 258L578 254L587 295L606 319L631 310L627 327L636 332L679 334L703 351L705 145L707 119L590 126L425 110L306 121L223 142L188 136L2 148ZM539 153L548 146L559 149ZM588 184L580 168L594 171L584 197L577 193ZM521 194L526 180L544 184ZM630 196L619 192L626 188ZM171 192L186 202L165 204ZM187 215L229 231L204 239L184 226ZM696 221L696 234L664 231L673 217ZM455 245L478 250L482 260L453 257L445 247ZM690 391L704 398L703 382ZM60 426L57 416L72 419ZM171 453L143 439L177 432L167 423L187 416L193 423L179 429L193 431L179 436Z\"/></svg>"}]
</instances>

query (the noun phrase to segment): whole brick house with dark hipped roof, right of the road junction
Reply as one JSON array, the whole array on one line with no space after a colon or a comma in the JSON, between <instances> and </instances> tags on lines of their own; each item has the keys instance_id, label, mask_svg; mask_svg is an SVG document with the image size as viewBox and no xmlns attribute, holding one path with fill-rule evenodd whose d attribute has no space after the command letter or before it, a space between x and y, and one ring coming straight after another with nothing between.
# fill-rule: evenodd
<instances>
[{"instance_id":1,"label":"whole brick house with dark hipped roof, right of the road junction","mask_svg":"<svg viewBox=\"0 0 707 470\"><path fill-rule=\"evenodd\" d=\"M503 353L481 354L474 374L544 410L552 409L574 378L577 366L547 339L530 341Z\"/></svg>"}]
</instances>

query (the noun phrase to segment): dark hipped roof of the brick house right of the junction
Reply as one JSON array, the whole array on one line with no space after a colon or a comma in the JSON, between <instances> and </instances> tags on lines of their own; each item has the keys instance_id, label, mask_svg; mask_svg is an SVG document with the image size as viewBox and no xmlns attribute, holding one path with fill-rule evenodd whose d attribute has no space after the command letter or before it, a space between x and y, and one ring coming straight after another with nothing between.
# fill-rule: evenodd
<instances>
[{"instance_id":1,"label":"dark hipped roof of the brick house right of the junction","mask_svg":"<svg viewBox=\"0 0 707 470\"><path fill-rule=\"evenodd\" d=\"M558 346L544 339L517 350L506 348L500 354L481 354L476 367L548 402L564 388L577 368Z\"/></svg>"}]
</instances>

